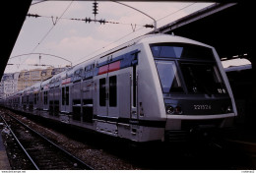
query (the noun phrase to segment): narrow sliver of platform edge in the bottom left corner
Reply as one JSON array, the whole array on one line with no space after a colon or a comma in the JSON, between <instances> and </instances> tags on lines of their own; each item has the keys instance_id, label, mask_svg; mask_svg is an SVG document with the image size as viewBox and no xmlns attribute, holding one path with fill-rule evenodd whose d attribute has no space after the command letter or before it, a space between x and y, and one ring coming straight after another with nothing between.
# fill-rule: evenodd
<instances>
[{"instance_id":1,"label":"narrow sliver of platform edge in the bottom left corner","mask_svg":"<svg viewBox=\"0 0 256 173\"><path fill-rule=\"evenodd\" d=\"M2 128L0 127L2 132ZM5 145L3 144L2 135L0 134L0 170L11 170L9 159L7 157Z\"/></svg>"}]
</instances>

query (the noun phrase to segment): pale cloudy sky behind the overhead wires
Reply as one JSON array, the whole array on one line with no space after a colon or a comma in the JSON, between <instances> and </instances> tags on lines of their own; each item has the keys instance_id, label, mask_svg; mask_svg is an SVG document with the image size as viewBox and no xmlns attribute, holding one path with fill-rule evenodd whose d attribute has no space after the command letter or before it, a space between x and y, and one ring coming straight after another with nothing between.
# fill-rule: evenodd
<instances>
[{"instance_id":1,"label":"pale cloudy sky behind the overhead wires","mask_svg":"<svg viewBox=\"0 0 256 173\"><path fill-rule=\"evenodd\" d=\"M38 1L33 1L34 2ZM64 67L79 64L110 48L152 31L142 26L152 25L153 20L124 5L98 1L96 20L120 24L105 24L69 19L95 19L93 1L45 1L31 6L9 59L5 73L35 68L35 64ZM143 11L157 20L158 28L196 12L212 3L131 2L122 3ZM61 19L60 19L61 17ZM31 54L44 53L47 55ZM22 56L20 56L22 55ZM40 57L40 58L39 58Z\"/></svg>"}]
</instances>

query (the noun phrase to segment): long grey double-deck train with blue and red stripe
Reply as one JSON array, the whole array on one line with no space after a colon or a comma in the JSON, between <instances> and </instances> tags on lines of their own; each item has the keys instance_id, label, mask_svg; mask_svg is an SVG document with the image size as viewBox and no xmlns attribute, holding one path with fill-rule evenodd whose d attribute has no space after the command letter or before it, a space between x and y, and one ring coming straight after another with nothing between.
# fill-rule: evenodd
<instances>
[{"instance_id":1,"label":"long grey double-deck train with blue and red stripe","mask_svg":"<svg viewBox=\"0 0 256 173\"><path fill-rule=\"evenodd\" d=\"M128 41L1 104L138 143L223 131L237 115L216 49L163 33Z\"/></svg>"}]
</instances>

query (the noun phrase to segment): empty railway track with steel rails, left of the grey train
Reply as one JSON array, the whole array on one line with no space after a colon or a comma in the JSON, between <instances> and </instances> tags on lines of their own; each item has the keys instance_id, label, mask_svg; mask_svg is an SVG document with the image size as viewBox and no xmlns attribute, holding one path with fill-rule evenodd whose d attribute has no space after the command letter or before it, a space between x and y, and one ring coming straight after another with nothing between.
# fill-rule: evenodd
<instances>
[{"instance_id":1,"label":"empty railway track with steel rails, left of the grey train","mask_svg":"<svg viewBox=\"0 0 256 173\"><path fill-rule=\"evenodd\" d=\"M93 168L66 151L57 144L52 143L39 133L35 132L10 114L1 118L10 130L17 144L32 162L37 170L92 170ZM8 119L8 120L7 120ZM12 127L12 128L11 128Z\"/></svg>"}]
</instances>

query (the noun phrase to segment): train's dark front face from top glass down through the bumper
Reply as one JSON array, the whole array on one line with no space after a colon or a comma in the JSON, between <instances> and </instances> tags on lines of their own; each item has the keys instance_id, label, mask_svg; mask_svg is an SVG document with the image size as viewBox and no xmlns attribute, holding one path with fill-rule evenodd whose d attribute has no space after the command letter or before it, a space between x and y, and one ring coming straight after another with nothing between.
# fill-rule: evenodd
<instances>
[{"instance_id":1,"label":"train's dark front face from top glass down through the bumper","mask_svg":"<svg viewBox=\"0 0 256 173\"><path fill-rule=\"evenodd\" d=\"M179 142L232 126L236 108L212 47L151 44L166 112L164 141Z\"/></svg>"}]
</instances>

